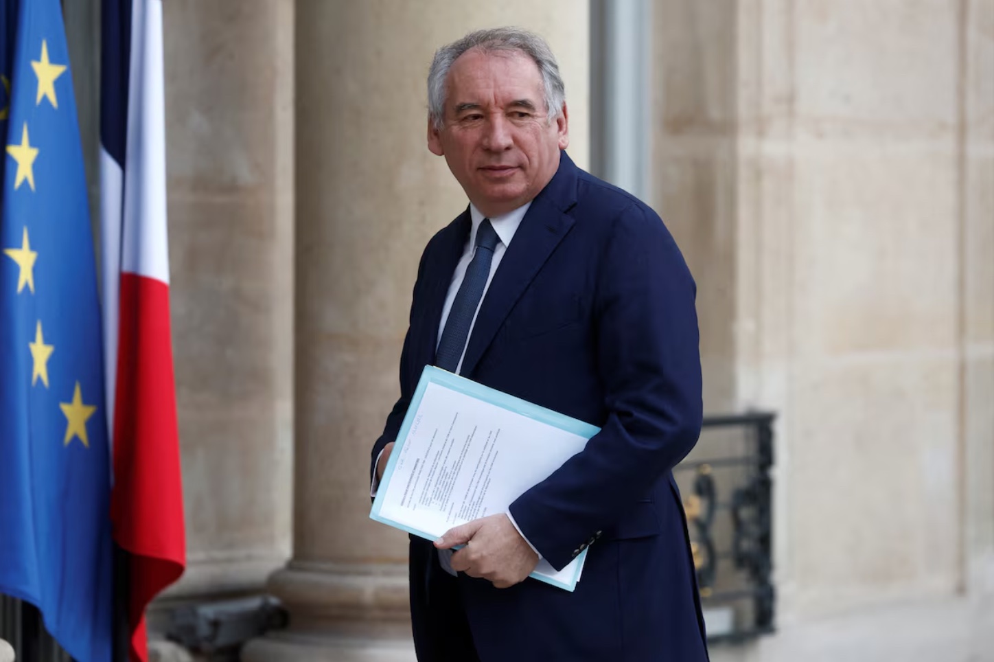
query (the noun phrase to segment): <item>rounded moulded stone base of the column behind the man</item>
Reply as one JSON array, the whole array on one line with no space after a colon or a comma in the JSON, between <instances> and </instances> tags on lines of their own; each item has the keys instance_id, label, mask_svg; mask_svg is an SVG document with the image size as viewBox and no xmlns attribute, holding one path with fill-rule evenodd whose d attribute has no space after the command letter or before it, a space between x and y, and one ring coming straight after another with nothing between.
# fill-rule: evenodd
<instances>
[{"instance_id":1,"label":"rounded moulded stone base of the column behind the man","mask_svg":"<svg viewBox=\"0 0 994 662\"><path fill-rule=\"evenodd\" d=\"M414 662L407 564L291 561L268 591L285 630L252 639L245 662Z\"/></svg>"}]
</instances>

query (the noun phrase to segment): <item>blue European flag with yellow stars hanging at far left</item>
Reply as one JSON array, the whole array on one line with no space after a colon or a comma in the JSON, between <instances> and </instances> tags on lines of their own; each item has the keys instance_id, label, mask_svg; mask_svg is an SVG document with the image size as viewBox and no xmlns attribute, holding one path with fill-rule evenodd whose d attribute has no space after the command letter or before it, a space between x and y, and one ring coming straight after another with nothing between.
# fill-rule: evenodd
<instances>
[{"instance_id":1,"label":"blue European flag with yellow stars hanging at far left","mask_svg":"<svg viewBox=\"0 0 994 662\"><path fill-rule=\"evenodd\" d=\"M100 314L59 0L0 0L0 592L111 657Z\"/></svg>"}]
</instances>

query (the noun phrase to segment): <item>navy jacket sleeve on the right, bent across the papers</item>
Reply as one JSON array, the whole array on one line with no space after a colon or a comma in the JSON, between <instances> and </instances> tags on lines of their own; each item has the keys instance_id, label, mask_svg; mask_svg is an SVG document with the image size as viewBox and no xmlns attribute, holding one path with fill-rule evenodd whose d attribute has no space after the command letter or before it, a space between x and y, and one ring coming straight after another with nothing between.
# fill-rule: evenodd
<instances>
[{"instance_id":1,"label":"navy jacket sleeve on the right, bent across the papers","mask_svg":"<svg viewBox=\"0 0 994 662\"><path fill-rule=\"evenodd\" d=\"M600 432L511 504L554 568L615 524L697 442L701 359L695 284L647 208L614 221L594 295L595 353L607 412Z\"/></svg>"}]
</instances>

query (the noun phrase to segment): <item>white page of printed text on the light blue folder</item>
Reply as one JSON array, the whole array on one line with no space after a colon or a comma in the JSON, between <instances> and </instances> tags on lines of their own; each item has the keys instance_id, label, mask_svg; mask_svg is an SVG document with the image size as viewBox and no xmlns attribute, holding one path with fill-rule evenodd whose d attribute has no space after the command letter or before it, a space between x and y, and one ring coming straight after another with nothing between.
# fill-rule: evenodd
<instances>
[{"instance_id":1,"label":"white page of printed text on the light blue folder","mask_svg":"<svg viewBox=\"0 0 994 662\"><path fill-rule=\"evenodd\" d=\"M406 419L410 427L398 439L377 493L373 517L429 540L465 522L507 512L587 440L433 382L414 405ZM585 552L561 572L542 560L535 575L572 589L584 559Z\"/></svg>"}]
</instances>

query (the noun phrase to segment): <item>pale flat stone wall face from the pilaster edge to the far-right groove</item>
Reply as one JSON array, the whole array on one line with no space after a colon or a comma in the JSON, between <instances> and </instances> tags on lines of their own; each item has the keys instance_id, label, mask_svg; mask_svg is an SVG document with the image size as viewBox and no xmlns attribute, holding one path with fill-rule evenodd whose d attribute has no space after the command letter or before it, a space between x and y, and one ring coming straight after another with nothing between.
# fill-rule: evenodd
<instances>
[{"instance_id":1,"label":"pale flat stone wall face from the pilaster edge to the far-right groove","mask_svg":"<svg viewBox=\"0 0 994 662\"><path fill-rule=\"evenodd\" d=\"M740 45L761 83L742 99L742 174L755 170L743 228L763 238L741 247L743 285L754 269L759 289L740 319L761 329L741 339L741 397L784 414L783 605L949 591L961 545L956 7L770 4L761 48Z\"/></svg>"}]
</instances>

